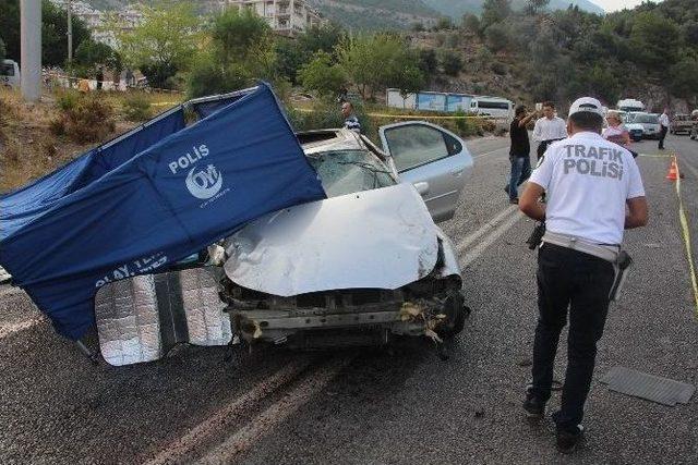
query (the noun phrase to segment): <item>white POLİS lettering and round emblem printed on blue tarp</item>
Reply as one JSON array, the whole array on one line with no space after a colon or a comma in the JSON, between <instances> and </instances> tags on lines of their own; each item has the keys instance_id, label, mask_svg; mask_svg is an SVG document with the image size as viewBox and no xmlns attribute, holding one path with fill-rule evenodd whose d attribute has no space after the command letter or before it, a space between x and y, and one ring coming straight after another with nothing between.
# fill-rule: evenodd
<instances>
[{"instance_id":1,"label":"white POL\u0130S lettering and round emblem printed on blue tarp","mask_svg":"<svg viewBox=\"0 0 698 465\"><path fill-rule=\"evenodd\" d=\"M210 151L206 144L201 144L197 147L192 147L191 151L168 164L172 174L177 174L180 170L189 170L184 184L191 195L201 200L206 200L200 205L201 208L206 207L230 191L230 188L220 191L222 187L222 173L218 171L215 164L198 166L198 161L208 157Z\"/></svg>"}]
</instances>

